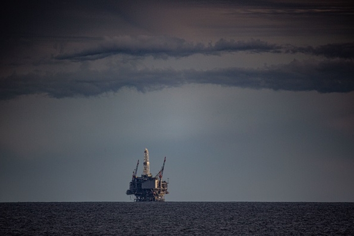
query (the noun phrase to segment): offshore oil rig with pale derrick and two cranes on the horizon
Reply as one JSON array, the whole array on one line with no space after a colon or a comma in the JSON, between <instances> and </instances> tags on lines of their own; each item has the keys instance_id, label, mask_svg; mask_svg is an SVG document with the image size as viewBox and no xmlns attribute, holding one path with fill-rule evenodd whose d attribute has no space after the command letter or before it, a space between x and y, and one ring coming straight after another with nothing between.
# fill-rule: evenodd
<instances>
[{"instance_id":1,"label":"offshore oil rig with pale derrick and two cranes on the horizon","mask_svg":"<svg viewBox=\"0 0 354 236\"><path fill-rule=\"evenodd\" d=\"M165 167L166 157L163 160L161 170L155 177L150 173L149 151L144 151L144 169L141 177L137 177L139 160L137 168L133 171L129 189L126 195L134 195L136 202L164 202L167 192L167 182L162 180L163 168Z\"/></svg>"}]
</instances>

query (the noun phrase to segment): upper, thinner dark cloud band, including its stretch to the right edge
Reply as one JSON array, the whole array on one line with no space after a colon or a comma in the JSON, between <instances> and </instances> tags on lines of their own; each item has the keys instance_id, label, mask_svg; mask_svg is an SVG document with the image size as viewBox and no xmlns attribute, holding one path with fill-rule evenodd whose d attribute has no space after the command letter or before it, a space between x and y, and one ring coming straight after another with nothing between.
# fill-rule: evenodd
<instances>
[{"instance_id":1,"label":"upper, thinner dark cloud band, including its stretch to the right edge","mask_svg":"<svg viewBox=\"0 0 354 236\"><path fill-rule=\"evenodd\" d=\"M95 39L98 40L98 39ZM130 56L153 56L154 58L167 57L188 57L194 54L220 55L222 53L233 53L249 51L253 53L304 53L327 58L354 58L354 43L330 43L317 47L300 47L294 45L280 45L269 43L260 39L234 40L219 39L215 43L188 42L185 39L167 36L120 36L105 38L100 45L91 49L72 54L60 54L55 57L57 60L86 61L97 60L112 55L126 54Z\"/></svg>"}]
</instances>

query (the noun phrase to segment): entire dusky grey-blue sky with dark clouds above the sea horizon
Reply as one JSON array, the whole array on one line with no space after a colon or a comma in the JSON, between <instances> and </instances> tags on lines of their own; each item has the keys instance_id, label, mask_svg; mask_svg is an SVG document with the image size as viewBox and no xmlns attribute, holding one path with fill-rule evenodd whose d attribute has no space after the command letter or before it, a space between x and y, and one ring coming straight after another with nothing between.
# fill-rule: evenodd
<instances>
[{"instance_id":1,"label":"entire dusky grey-blue sky with dark clouds above the sea horizon","mask_svg":"<svg viewBox=\"0 0 354 236\"><path fill-rule=\"evenodd\" d=\"M0 202L354 202L352 1L9 1Z\"/></svg>"}]
</instances>

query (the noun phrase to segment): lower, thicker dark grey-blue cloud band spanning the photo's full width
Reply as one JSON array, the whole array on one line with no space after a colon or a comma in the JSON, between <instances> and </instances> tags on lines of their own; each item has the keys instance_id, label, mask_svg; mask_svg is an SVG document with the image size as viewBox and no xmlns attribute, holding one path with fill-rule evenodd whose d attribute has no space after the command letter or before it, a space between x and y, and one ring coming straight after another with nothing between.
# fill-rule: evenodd
<instances>
[{"instance_id":1,"label":"lower, thicker dark grey-blue cloud band spanning the photo's full width","mask_svg":"<svg viewBox=\"0 0 354 236\"><path fill-rule=\"evenodd\" d=\"M175 87L186 83L209 83L247 88L319 92L354 90L354 62L326 60L318 63L294 60L290 64L258 69L226 68L197 70L84 70L47 75L13 74L2 78L0 99L21 95L46 94L54 98L96 96L134 87L140 91Z\"/></svg>"}]
</instances>

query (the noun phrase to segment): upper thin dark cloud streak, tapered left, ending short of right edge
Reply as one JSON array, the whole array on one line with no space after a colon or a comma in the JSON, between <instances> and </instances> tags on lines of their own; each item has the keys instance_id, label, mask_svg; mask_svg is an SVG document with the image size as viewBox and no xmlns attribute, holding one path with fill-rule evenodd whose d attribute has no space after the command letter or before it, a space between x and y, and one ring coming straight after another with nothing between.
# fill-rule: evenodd
<instances>
[{"instance_id":1,"label":"upper thin dark cloud streak, tapered left, ending short of right edge","mask_svg":"<svg viewBox=\"0 0 354 236\"><path fill-rule=\"evenodd\" d=\"M106 38L99 46L90 50L84 50L74 54L62 54L55 57L58 60L96 60L115 54L127 54L132 56L186 57L193 54L217 55L223 52L277 52L280 45L271 44L259 39L248 41L235 41L234 39L219 39L214 44L188 42L176 37L152 37L152 36L121 36Z\"/></svg>"}]
</instances>

